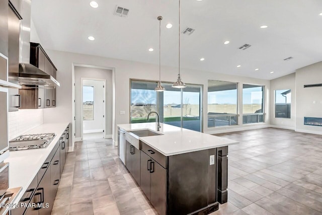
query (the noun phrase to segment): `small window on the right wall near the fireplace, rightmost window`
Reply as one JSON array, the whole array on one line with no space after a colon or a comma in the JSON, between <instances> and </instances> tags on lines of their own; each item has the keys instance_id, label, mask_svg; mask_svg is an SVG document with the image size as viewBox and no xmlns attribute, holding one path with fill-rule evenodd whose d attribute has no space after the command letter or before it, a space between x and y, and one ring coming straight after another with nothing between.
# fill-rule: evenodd
<instances>
[{"instance_id":1,"label":"small window on the right wall near the fireplace, rightmost window","mask_svg":"<svg viewBox=\"0 0 322 215\"><path fill-rule=\"evenodd\" d=\"M275 90L275 117L291 118L291 90Z\"/></svg>"}]
</instances>

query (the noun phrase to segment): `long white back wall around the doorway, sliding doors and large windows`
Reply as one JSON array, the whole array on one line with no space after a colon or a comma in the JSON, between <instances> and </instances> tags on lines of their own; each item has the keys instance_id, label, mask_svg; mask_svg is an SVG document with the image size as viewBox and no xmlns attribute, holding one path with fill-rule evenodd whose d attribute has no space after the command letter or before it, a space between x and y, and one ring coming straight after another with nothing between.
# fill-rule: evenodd
<instances>
[{"instance_id":1,"label":"long white back wall around the doorway, sliding doors and large windows","mask_svg":"<svg viewBox=\"0 0 322 215\"><path fill-rule=\"evenodd\" d=\"M46 50L53 63L58 68L57 80L61 86L57 88L57 107L54 110L45 110L45 121L59 121L62 119L72 120L72 64L88 64L102 67L112 67L115 69L115 129L114 139L117 138L116 124L129 123L129 80L143 79L143 80L158 80L158 65L140 63L128 60L112 59L106 57L77 54L63 51ZM215 71L215 68L214 68ZM269 97L270 81L261 79L252 79L240 76L231 76L219 73L210 73L200 70L182 69L182 80L190 84L200 84L204 86L203 94L203 128L204 132L215 133L222 131L232 131L234 129L246 129L254 127L262 127L269 125L269 112L267 112L266 123L253 125L237 125L221 128L207 128L207 81L219 80L247 84L265 85L266 98ZM177 80L178 68L162 66L162 80L174 82ZM265 105L265 109L269 110L269 101ZM125 111L125 115L120 115L120 111ZM59 115L57 117L47 117L52 115Z\"/></svg>"}]
</instances>

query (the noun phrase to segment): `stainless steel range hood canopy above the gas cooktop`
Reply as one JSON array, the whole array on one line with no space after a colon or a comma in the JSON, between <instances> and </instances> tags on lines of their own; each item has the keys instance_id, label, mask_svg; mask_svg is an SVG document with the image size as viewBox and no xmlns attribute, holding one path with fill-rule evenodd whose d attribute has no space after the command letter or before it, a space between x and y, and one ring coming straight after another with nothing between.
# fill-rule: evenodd
<instances>
[{"instance_id":1,"label":"stainless steel range hood canopy above the gas cooktop","mask_svg":"<svg viewBox=\"0 0 322 215\"><path fill-rule=\"evenodd\" d=\"M30 63L19 63L19 84L45 86L55 84L60 86L54 77Z\"/></svg>"}]
</instances>

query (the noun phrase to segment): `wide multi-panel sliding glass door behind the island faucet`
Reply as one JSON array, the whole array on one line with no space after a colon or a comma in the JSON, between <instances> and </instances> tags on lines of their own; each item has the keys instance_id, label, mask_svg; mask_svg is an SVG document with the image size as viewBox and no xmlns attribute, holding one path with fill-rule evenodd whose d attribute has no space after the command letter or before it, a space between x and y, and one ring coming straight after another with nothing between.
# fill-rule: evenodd
<instances>
[{"instance_id":1,"label":"wide multi-panel sliding glass door behind the island faucet","mask_svg":"<svg viewBox=\"0 0 322 215\"><path fill-rule=\"evenodd\" d=\"M187 85L187 88L176 89L172 83L162 85L166 91L155 92L156 82L131 81L131 123L147 122L147 114L156 110L160 122L202 131L202 86ZM154 114L151 121L155 121Z\"/></svg>"}]
</instances>

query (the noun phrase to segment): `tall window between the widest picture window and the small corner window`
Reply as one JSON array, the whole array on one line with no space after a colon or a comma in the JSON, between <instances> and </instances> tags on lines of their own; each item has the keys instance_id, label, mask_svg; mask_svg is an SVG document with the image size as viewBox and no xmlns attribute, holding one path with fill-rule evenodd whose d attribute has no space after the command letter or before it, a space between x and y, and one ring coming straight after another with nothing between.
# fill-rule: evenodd
<instances>
[{"instance_id":1,"label":"tall window between the widest picture window and the small corner window","mask_svg":"<svg viewBox=\"0 0 322 215\"><path fill-rule=\"evenodd\" d=\"M264 86L243 85L243 124L264 122Z\"/></svg>"}]
</instances>

